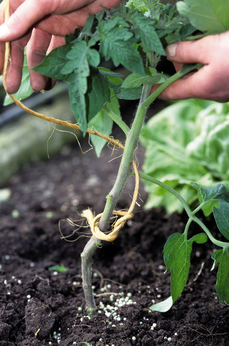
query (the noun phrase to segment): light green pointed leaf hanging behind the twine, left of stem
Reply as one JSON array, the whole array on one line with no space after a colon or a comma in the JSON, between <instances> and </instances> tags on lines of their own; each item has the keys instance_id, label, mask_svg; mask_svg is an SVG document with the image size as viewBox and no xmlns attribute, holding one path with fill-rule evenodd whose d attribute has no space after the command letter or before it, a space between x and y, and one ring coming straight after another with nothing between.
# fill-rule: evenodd
<instances>
[{"instance_id":1,"label":"light green pointed leaf hanging behind the twine, left of stem","mask_svg":"<svg viewBox=\"0 0 229 346\"><path fill-rule=\"evenodd\" d=\"M113 93L112 96L114 96ZM119 103L116 97L112 97L111 102L107 103L107 107L112 110L117 116L121 117ZM88 123L88 128L91 128L106 136L109 136L112 133L112 126L113 120L108 117L108 115L103 110L100 110L97 115ZM107 141L103 138L93 135L90 136L90 140L95 147L97 157L99 157Z\"/></svg>"}]
</instances>

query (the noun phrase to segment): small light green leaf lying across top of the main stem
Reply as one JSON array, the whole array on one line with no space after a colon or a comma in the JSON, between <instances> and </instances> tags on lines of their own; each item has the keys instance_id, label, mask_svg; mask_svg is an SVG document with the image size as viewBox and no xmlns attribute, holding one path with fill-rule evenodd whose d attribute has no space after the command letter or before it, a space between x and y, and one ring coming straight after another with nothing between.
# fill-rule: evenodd
<instances>
[{"instance_id":1,"label":"small light green leaf lying across top of the main stem","mask_svg":"<svg viewBox=\"0 0 229 346\"><path fill-rule=\"evenodd\" d=\"M127 76L122 83L122 88L137 88L141 84L157 84L166 80L166 77L161 73L157 73L157 70L153 67L145 67L144 70L146 74L144 77L135 72Z\"/></svg>"}]
</instances>

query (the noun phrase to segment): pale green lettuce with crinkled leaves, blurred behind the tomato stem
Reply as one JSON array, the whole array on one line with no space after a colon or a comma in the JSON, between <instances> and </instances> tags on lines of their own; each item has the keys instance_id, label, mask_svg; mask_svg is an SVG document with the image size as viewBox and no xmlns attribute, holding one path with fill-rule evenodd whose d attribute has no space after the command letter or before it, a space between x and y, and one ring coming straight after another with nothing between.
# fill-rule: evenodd
<instances>
[{"instance_id":1,"label":"pale green lettuce with crinkled leaves, blurred behind the tomato stem","mask_svg":"<svg viewBox=\"0 0 229 346\"><path fill-rule=\"evenodd\" d=\"M178 191L195 208L201 194L190 185L195 181L213 186L219 181L229 188L229 103L203 100L178 101L160 111L143 127L146 146L143 170ZM154 157L154 160L152 160ZM164 206L168 214L183 211L169 192L150 182L145 208ZM202 207L205 216L213 205Z\"/></svg>"}]
</instances>

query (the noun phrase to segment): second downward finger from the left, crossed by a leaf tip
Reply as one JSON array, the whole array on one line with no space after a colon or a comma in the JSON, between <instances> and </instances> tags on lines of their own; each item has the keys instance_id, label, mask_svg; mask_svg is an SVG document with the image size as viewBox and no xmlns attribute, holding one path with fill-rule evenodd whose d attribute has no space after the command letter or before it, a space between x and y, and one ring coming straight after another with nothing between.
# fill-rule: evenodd
<instances>
[{"instance_id":1,"label":"second downward finger from the left, crossed by a leaf tip","mask_svg":"<svg viewBox=\"0 0 229 346\"><path fill-rule=\"evenodd\" d=\"M30 85L34 91L41 91L45 88L46 77L32 67L39 65L45 58L52 36L40 29L33 29L30 40L26 48L26 56L29 68Z\"/></svg>"}]
</instances>

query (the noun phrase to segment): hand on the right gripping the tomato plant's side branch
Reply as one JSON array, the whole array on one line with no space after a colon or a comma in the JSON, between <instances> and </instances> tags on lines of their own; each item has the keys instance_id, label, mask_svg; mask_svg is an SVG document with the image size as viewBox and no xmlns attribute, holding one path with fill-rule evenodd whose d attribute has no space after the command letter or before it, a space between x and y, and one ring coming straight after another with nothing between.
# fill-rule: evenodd
<instances>
[{"instance_id":1,"label":"hand on the right gripping the tomato plant's side branch","mask_svg":"<svg viewBox=\"0 0 229 346\"><path fill-rule=\"evenodd\" d=\"M183 100L197 98L218 102L229 101L229 31L210 35L196 41L176 42L166 47L167 57L176 71L183 64L202 63L197 72L191 72L166 88L159 98ZM159 84L152 87L152 92Z\"/></svg>"}]
</instances>

